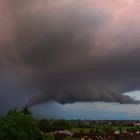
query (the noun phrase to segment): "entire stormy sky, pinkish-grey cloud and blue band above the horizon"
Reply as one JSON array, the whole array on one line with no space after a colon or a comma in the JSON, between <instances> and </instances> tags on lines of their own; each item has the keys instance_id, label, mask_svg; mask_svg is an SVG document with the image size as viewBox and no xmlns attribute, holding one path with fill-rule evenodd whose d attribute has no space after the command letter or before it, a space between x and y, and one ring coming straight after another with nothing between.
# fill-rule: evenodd
<instances>
[{"instance_id":1,"label":"entire stormy sky, pinkish-grey cloud and blue band above the horizon","mask_svg":"<svg viewBox=\"0 0 140 140\"><path fill-rule=\"evenodd\" d=\"M138 0L0 0L0 114L138 119Z\"/></svg>"}]
</instances>

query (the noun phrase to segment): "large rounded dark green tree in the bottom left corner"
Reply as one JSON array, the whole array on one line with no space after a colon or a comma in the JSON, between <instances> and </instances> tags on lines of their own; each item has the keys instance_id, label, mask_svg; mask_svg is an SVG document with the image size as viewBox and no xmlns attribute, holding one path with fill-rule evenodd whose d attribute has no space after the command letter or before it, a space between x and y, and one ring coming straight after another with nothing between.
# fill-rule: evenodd
<instances>
[{"instance_id":1,"label":"large rounded dark green tree in the bottom left corner","mask_svg":"<svg viewBox=\"0 0 140 140\"><path fill-rule=\"evenodd\" d=\"M42 140L42 135L32 115L15 108L0 120L0 140Z\"/></svg>"}]
</instances>

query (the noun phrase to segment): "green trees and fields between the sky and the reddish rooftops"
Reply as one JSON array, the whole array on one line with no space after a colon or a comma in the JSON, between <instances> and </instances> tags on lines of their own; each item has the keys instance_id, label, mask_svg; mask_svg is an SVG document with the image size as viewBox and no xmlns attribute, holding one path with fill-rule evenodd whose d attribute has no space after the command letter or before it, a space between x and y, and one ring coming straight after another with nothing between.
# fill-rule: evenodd
<instances>
[{"instance_id":1,"label":"green trees and fields between the sky and the reddish rooftops","mask_svg":"<svg viewBox=\"0 0 140 140\"><path fill-rule=\"evenodd\" d=\"M114 131L140 130L140 126L128 125L125 121L68 121L68 120L37 120L27 107L22 110L10 110L0 118L0 140L54 140L51 132L70 130L72 133L113 134ZM72 140L67 138L66 140Z\"/></svg>"}]
</instances>

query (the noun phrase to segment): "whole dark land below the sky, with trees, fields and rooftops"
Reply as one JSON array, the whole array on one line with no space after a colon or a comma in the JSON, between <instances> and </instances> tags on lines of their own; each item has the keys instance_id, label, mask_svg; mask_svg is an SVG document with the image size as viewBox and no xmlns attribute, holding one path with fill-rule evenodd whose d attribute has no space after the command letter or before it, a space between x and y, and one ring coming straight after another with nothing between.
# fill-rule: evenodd
<instances>
[{"instance_id":1,"label":"whole dark land below the sky, with trees, fields and rooftops","mask_svg":"<svg viewBox=\"0 0 140 140\"><path fill-rule=\"evenodd\" d=\"M0 140L140 140L140 121L39 120L14 108L0 118Z\"/></svg>"}]
</instances>

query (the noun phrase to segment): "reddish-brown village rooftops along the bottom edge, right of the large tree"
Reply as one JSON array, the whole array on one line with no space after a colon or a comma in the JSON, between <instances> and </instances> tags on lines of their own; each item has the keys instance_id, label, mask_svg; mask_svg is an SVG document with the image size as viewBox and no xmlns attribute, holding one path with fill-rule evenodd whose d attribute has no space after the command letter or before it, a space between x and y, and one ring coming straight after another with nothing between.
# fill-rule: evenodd
<instances>
[{"instance_id":1,"label":"reddish-brown village rooftops along the bottom edge, right of the large tree","mask_svg":"<svg viewBox=\"0 0 140 140\"><path fill-rule=\"evenodd\" d=\"M117 134L71 133L68 130L55 131L54 140L140 140L139 131ZM53 139L53 138L52 138Z\"/></svg>"}]
</instances>

